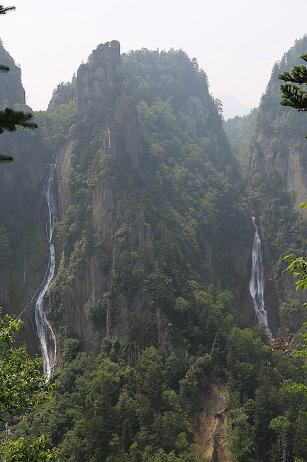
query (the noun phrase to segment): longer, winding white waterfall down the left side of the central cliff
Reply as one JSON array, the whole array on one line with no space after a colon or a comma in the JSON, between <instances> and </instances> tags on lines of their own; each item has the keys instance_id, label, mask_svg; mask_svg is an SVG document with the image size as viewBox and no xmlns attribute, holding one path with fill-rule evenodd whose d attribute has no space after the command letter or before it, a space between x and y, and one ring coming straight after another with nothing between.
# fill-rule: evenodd
<instances>
[{"instance_id":1,"label":"longer, winding white waterfall down the left side of the central cliff","mask_svg":"<svg viewBox=\"0 0 307 462\"><path fill-rule=\"evenodd\" d=\"M43 187L42 195L40 200L46 200L48 207L48 219L40 220L43 232L49 244L49 257L48 267L45 272L45 277L42 289L38 294L38 298L35 303L35 323L38 333L38 339L40 342L40 350L43 355L43 369L47 375L48 380L52 380L55 365L57 362L57 340L55 333L52 331L47 315L43 308L44 296L48 290L50 282L55 276L55 246L52 243L52 234L54 225L57 220L57 208L55 205L55 198L53 195L54 188L54 171L55 166L50 165L49 176Z\"/></svg>"}]
</instances>

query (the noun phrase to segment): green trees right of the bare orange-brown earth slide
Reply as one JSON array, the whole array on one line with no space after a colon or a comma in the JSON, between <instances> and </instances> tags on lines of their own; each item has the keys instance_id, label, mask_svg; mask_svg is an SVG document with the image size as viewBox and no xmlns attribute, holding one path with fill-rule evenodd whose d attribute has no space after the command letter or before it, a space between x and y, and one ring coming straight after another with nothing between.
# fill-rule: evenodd
<instances>
[{"instance_id":1,"label":"green trees right of the bare orange-brown earth slide","mask_svg":"<svg viewBox=\"0 0 307 462\"><path fill-rule=\"evenodd\" d=\"M248 343L251 345L250 340ZM233 409L228 449L231 460L258 461L263 458L279 461L281 449L289 451L289 460L292 460L293 454L305 458L306 439L303 432L296 429L301 429L303 424L307 401L301 392L294 396L285 391L289 383L293 384L294 377L302 378L297 370L298 363L278 351L272 352L264 345L259 345L259 353L250 347L247 350L247 355L242 358L244 362L237 360L234 371L230 371L230 402ZM240 377L238 390L233 381L236 377ZM285 441L286 446L282 446Z\"/></svg>"}]
</instances>

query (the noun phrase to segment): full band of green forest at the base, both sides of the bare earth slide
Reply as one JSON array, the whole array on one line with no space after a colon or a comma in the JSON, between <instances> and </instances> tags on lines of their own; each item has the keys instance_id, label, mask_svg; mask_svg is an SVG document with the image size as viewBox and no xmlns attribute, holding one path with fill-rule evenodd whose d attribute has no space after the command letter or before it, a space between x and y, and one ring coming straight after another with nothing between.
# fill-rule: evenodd
<instances>
[{"instance_id":1,"label":"full band of green forest at the base, both sides of the bare earth slide","mask_svg":"<svg viewBox=\"0 0 307 462\"><path fill-rule=\"evenodd\" d=\"M201 461L191 444L192 419L213 377L227 377L230 460L256 462L272 449L272 457L278 455L270 424L281 421L279 416L291 423L289 451L306 457L300 412L307 411L307 400L284 392L301 377L298 360L272 352L249 329L228 332L225 366L214 349L186 360L150 346L131 363L130 345L121 340L105 338L94 355L78 353L79 342L67 338L54 399L18 424L13 437L44 431L60 461Z\"/></svg>"}]
</instances>

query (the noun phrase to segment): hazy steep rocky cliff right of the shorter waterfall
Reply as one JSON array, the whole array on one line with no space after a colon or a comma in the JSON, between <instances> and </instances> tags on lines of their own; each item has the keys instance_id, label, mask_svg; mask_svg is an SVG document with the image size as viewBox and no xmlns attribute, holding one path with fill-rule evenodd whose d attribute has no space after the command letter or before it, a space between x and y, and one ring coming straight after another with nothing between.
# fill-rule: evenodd
<instances>
[{"instance_id":1,"label":"hazy steep rocky cliff right of the shorter waterfall","mask_svg":"<svg viewBox=\"0 0 307 462\"><path fill-rule=\"evenodd\" d=\"M306 52L306 46L306 37L296 41L294 47L274 65L267 90L257 109L250 156L255 212L262 220L269 269L267 286L277 276L279 296L290 297L301 297L303 294L295 294L294 280L281 274L281 267L285 267L281 264L281 255L306 252L303 245L306 223L295 211L306 215L298 204L307 200L307 117L304 112L281 106L281 80L278 77L290 71L294 65L302 65L300 56ZM270 295L271 290L268 291Z\"/></svg>"}]
</instances>

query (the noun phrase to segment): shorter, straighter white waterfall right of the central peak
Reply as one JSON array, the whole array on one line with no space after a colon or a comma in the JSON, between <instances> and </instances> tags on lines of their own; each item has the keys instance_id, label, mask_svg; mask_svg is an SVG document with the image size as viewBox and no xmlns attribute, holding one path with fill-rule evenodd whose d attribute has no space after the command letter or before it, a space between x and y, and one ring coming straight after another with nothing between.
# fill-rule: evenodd
<instances>
[{"instance_id":1,"label":"shorter, straighter white waterfall right of the central peak","mask_svg":"<svg viewBox=\"0 0 307 462\"><path fill-rule=\"evenodd\" d=\"M272 339L267 322L267 310L264 306L264 265L261 240L258 234L255 217L252 217L252 224L255 226L255 237L252 243L252 269L250 274L250 295L254 302L255 314L259 326L264 326L267 335Z\"/></svg>"}]
</instances>

